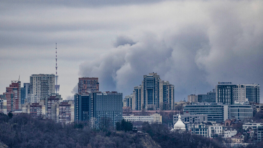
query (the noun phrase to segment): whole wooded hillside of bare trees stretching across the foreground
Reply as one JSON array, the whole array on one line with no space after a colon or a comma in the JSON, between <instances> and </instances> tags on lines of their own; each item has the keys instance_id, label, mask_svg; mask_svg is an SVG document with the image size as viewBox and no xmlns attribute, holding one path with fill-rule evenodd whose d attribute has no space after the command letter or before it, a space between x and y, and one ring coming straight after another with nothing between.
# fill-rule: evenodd
<instances>
[{"instance_id":1,"label":"whole wooded hillside of bare trees stretching across the foreground","mask_svg":"<svg viewBox=\"0 0 263 148\"><path fill-rule=\"evenodd\" d=\"M191 135L188 132L170 132L161 124L144 123L141 131L124 132L130 122L120 123L123 131L97 131L87 123L58 124L52 120L31 118L28 114L7 116L0 113L0 147L9 148L219 148L223 141ZM262 147L249 145L248 148Z\"/></svg>"}]
</instances>

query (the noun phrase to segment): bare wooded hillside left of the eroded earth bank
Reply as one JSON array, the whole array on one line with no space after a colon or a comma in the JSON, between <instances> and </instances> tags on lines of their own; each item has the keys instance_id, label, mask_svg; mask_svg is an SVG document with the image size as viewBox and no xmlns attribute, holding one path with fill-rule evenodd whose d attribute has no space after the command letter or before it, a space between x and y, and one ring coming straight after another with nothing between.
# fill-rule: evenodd
<instances>
[{"instance_id":1,"label":"bare wooded hillside left of the eroded earth bank","mask_svg":"<svg viewBox=\"0 0 263 148\"><path fill-rule=\"evenodd\" d=\"M97 131L87 124L55 123L34 119L28 114L9 118L0 114L0 147L9 148L134 148L140 147L136 137L128 132Z\"/></svg>"}]
</instances>

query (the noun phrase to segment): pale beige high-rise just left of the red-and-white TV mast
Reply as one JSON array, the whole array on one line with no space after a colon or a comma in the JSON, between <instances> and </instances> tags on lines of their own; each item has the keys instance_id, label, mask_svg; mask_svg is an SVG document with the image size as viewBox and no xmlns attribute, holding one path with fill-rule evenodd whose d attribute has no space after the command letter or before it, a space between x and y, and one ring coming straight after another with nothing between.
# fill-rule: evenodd
<instances>
[{"instance_id":1,"label":"pale beige high-rise just left of the red-and-white TV mast","mask_svg":"<svg viewBox=\"0 0 263 148\"><path fill-rule=\"evenodd\" d=\"M40 98L55 93L55 75L54 74L32 74L30 76L30 94ZM38 101L39 102L39 101Z\"/></svg>"}]
</instances>

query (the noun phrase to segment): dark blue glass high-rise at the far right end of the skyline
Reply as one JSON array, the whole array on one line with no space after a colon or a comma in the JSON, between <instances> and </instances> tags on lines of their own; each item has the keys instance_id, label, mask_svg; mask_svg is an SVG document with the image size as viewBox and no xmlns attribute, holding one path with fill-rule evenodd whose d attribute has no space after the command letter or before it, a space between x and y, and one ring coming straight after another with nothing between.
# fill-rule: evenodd
<instances>
[{"instance_id":1,"label":"dark blue glass high-rise at the far right end of the skyline","mask_svg":"<svg viewBox=\"0 0 263 148\"><path fill-rule=\"evenodd\" d=\"M249 102L260 103L259 84L244 84L246 86L246 98Z\"/></svg>"}]
</instances>

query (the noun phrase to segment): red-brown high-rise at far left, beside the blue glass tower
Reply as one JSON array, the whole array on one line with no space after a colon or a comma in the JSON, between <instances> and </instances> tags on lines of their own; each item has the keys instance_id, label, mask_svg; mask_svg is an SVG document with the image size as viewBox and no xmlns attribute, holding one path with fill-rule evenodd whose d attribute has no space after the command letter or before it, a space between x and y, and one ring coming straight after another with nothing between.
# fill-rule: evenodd
<instances>
[{"instance_id":1,"label":"red-brown high-rise at far left, beside the blue glass tower","mask_svg":"<svg viewBox=\"0 0 263 148\"><path fill-rule=\"evenodd\" d=\"M9 87L6 87L6 92L3 95L6 96L7 112L21 109L21 82L11 81Z\"/></svg>"}]
</instances>

